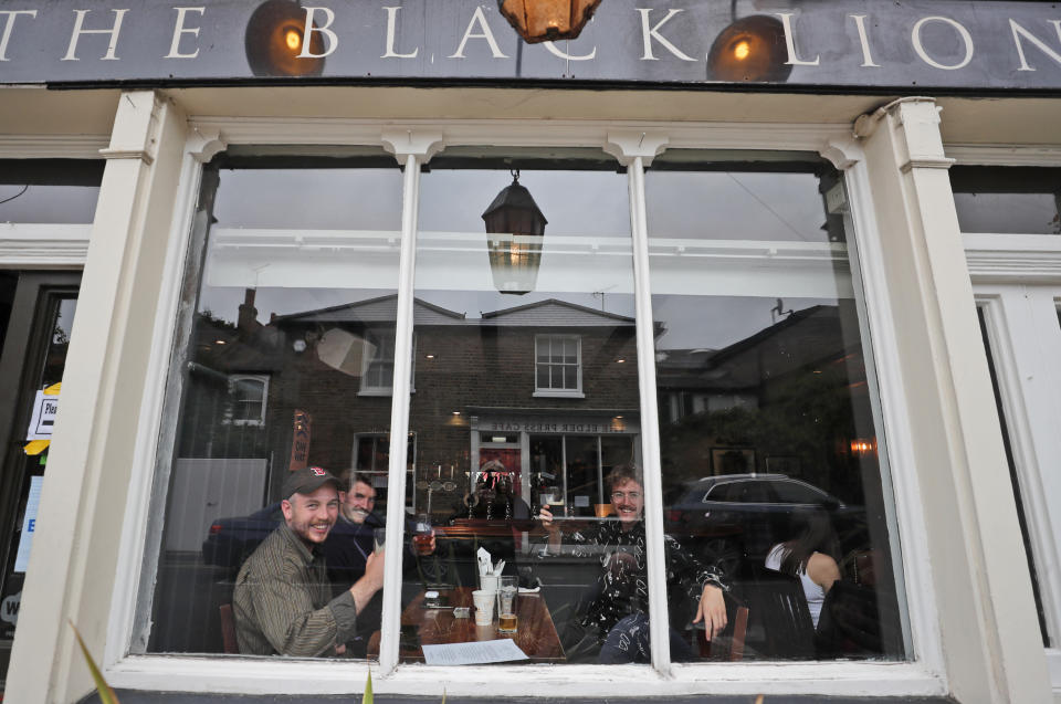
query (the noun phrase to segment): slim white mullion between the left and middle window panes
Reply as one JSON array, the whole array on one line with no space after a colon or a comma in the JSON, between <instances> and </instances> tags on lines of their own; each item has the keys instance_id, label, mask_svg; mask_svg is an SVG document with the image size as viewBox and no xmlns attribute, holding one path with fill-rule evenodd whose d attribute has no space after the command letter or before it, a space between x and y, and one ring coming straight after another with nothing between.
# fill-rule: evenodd
<instances>
[{"instance_id":1,"label":"slim white mullion between the left and middle window panes","mask_svg":"<svg viewBox=\"0 0 1061 704\"><path fill-rule=\"evenodd\" d=\"M390 406L390 458L387 472L387 545L385 551L384 607L380 624L379 669L386 676L398 665L398 630L401 616L401 563L405 543L406 454L409 434L409 391L412 365L413 286L416 284L417 212L420 198L420 164L405 155L401 204L401 250L398 263L398 309L395 329L395 372Z\"/></svg>"}]
</instances>

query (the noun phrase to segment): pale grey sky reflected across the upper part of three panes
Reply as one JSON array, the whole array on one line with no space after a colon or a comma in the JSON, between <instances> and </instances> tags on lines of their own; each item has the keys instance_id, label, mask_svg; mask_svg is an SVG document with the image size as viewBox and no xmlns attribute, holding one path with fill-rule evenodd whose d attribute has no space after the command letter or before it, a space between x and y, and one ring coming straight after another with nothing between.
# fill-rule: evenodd
<instances>
[{"instance_id":1,"label":"pale grey sky reflected across the upper part of three panes","mask_svg":"<svg viewBox=\"0 0 1061 704\"><path fill-rule=\"evenodd\" d=\"M524 170L519 178L549 221L545 239L556 237L622 238L629 242L627 178L611 171ZM438 169L421 180L420 230L422 232L485 233L482 212L497 192L512 182L505 169ZM810 174L729 174L723 171L656 171L648 178L648 214L653 238L776 239L827 241L821 229L824 212L818 178ZM314 229L400 229L401 174L395 169L260 169L221 174L214 214L218 227ZM421 248L426 241L421 241ZM418 256L416 295L428 303L475 321L483 313L560 298L595 311L634 316L632 256L620 253L619 265L593 272L601 283L588 285L586 275L568 272L571 261L549 254L542 261L539 283L549 290L525 295L503 295L489 284L489 262L482 252L460 254L474 271L455 273L452 261L437 251ZM471 261L471 264L469 264ZM679 261L679 260L672 260ZM695 266L690 261L689 266ZM387 262L397 284L397 258ZM556 273L557 271L561 273ZM448 276L449 272L454 272ZM356 276L345 285L306 280L290 287L261 286L255 306L258 318L288 315L389 295L396 288L361 288ZM390 275L390 272L387 272ZM434 285L428 284L430 281ZM701 280L706 281L706 274ZM440 287L439 280L452 281ZM481 280L481 281L480 281ZM569 281L570 287L556 286ZM319 287L316 287L319 286ZM766 286L770 288L769 286ZM721 349L773 325L770 309L777 291L755 295L653 296L653 317L664 332L660 349ZM701 294L706 293L700 291ZM717 292L715 292L717 293ZM235 321L243 302L242 286L204 287L199 309ZM836 305L836 298L791 296L786 309Z\"/></svg>"}]
</instances>

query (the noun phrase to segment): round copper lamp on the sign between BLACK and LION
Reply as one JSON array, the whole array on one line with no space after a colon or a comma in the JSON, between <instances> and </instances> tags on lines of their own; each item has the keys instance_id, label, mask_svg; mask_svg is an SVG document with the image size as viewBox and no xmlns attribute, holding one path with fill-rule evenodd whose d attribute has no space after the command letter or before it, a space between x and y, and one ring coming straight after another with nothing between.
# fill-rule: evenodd
<instances>
[{"instance_id":1,"label":"round copper lamp on the sign between BLACK and LION","mask_svg":"<svg viewBox=\"0 0 1061 704\"><path fill-rule=\"evenodd\" d=\"M780 20L754 14L737 20L718 34L707 54L710 77L716 81L782 83L792 66Z\"/></svg>"}]
</instances>

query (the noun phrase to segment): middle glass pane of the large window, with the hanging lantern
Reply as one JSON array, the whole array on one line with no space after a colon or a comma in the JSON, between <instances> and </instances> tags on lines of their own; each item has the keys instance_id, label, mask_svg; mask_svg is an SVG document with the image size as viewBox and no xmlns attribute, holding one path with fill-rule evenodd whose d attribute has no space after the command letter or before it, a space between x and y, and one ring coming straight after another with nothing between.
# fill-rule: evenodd
<instances>
[{"instance_id":1,"label":"middle glass pane of the large window, with the hanging lantern","mask_svg":"<svg viewBox=\"0 0 1061 704\"><path fill-rule=\"evenodd\" d=\"M505 202L514 169L547 221L540 238L527 234L543 223L525 196L515 200L526 212L487 235L484 213ZM635 649L602 651L621 619L644 619L648 608L640 512L620 522L606 507L609 472L640 461L627 193L599 154L450 155L422 176L409 410L419 456L408 507L428 515L435 547L407 553L403 661L433 644L502 638L534 662L645 661ZM554 517L548 546L542 522L528 519L543 504ZM519 592L514 634L496 608L483 610L482 626L474 610L422 608L428 591L447 606L473 603L480 548L523 589L542 581Z\"/></svg>"}]
</instances>

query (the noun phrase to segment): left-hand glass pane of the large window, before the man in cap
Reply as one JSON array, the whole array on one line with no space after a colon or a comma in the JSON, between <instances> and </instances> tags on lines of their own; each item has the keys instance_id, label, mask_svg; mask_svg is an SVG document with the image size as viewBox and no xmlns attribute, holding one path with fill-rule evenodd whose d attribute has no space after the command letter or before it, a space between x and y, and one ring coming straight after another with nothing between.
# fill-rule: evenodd
<instances>
[{"instance_id":1,"label":"left-hand glass pane of the large window, before the man in cap","mask_svg":"<svg viewBox=\"0 0 1061 704\"><path fill-rule=\"evenodd\" d=\"M381 592L344 595L367 584L387 500L401 174L385 165L207 170L141 649L366 655ZM284 490L313 466L343 485Z\"/></svg>"}]
</instances>

